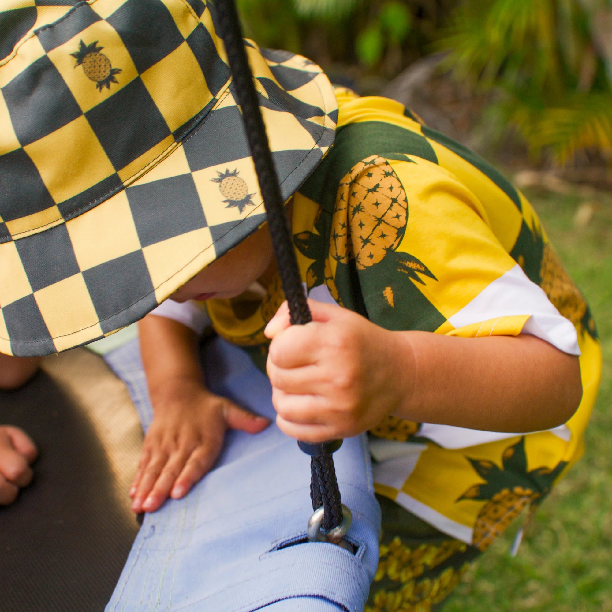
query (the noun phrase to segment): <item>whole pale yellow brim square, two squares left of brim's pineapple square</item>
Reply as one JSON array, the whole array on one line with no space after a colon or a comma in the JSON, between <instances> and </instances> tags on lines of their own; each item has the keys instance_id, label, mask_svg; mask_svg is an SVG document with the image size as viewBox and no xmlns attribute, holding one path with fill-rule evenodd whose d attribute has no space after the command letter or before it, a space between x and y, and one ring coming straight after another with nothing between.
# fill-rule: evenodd
<instances>
[{"instance_id":1,"label":"whole pale yellow brim square, two squares left of brim's pineapple square","mask_svg":"<svg viewBox=\"0 0 612 612\"><path fill-rule=\"evenodd\" d=\"M140 249L136 226L125 192L66 222L81 270Z\"/></svg>"}]
</instances>

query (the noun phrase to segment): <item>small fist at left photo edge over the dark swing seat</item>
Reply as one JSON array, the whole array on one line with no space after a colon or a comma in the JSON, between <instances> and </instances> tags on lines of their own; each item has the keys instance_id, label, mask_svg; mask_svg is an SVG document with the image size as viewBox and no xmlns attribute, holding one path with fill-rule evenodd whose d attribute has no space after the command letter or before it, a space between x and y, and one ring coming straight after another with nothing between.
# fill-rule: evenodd
<instances>
[{"instance_id":1,"label":"small fist at left photo edge over the dark swing seat","mask_svg":"<svg viewBox=\"0 0 612 612\"><path fill-rule=\"evenodd\" d=\"M38 455L34 442L17 427L0 426L0 506L17 498L32 480L30 464Z\"/></svg>"}]
</instances>

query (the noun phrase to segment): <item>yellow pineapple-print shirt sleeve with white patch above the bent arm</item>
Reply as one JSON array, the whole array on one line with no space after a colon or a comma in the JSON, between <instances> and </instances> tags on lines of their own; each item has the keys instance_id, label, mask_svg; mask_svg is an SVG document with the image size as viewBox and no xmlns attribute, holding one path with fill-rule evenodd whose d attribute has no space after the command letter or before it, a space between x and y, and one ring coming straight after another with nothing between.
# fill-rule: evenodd
<instances>
[{"instance_id":1,"label":"yellow pineapple-print shirt sleeve with white patch above the bent arm","mask_svg":"<svg viewBox=\"0 0 612 612\"><path fill-rule=\"evenodd\" d=\"M476 196L419 157L353 166L325 268L331 296L386 329L528 333L580 354L575 327L502 247Z\"/></svg>"}]
</instances>

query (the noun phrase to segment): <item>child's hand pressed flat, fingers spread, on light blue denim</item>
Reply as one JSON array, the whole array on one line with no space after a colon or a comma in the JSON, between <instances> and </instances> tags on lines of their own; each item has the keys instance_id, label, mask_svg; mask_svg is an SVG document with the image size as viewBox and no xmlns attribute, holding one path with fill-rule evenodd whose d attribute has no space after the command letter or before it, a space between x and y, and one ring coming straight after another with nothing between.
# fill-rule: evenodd
<instances>
[{"instance_id":1,"label":"child's hand pressed flat, fingers spread, on light blue denim","mask_svg":"<svg viewBox=\"0 0 612 612\"><path fill-rule=\"evenodd\" d=\"M227 429L258 433L269 425L192 379L166 385L151 399L155 416L130 488L134 512L182 498L214 465Z\"/></svg>"}]
</instances>

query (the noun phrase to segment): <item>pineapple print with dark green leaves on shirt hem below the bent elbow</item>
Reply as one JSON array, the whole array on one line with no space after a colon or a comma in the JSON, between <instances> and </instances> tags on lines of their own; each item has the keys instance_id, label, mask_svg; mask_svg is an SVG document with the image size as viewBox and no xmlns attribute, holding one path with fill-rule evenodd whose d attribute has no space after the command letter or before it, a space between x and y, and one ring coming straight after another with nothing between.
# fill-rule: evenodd
<instances>
[{"instance_id":1,"label":"pineapple print with dark green leaves on shirt hem below the bent elbow","mask_svg":"<svg viewBox=\"0 0 612 612\"><path fill-rule=\"evenodd\" d=\"M472 538L474 546L481 551L486 550L525 507L540 504L567 465L561 461L552 470L542 467L527 471L524 436L504 450L501 469L492 461L469 457L468 460L486 482L470 487L457 501L486 502L476 519Z\"/></svg>"}]
</instances>

